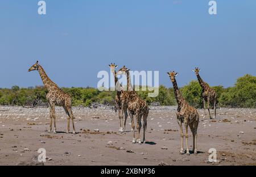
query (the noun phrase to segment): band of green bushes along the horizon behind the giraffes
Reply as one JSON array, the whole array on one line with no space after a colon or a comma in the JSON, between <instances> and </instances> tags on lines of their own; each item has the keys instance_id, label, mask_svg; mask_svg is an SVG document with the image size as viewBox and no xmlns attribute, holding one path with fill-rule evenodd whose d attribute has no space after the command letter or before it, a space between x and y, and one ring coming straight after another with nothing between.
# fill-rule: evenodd
<instances>
[{"instance_id":1,"label":"band of green bushes along the horizon behind the giraffes","mask_svg":"<svg viewBox=\"0 0 256 177\"><path fill-rule=\"evenodd\" d=\"M145 87L144 87L145 88ZM224 88L223 86L212 87L218 95L219 107L243 107L256 108L256 77L246 74L237 79L234 87ZM72 96L73 106L90 106L93 103L114 105L115 91L99 91L92 87L72 87L62 88ZM140 87L142 90L142 87ZM146 91L137 91L142 99L148 104L158 103L161 106L176 105L173 88L159 86L159 94L156 97L148 97L148 93L153 92L150 88ZM201 99L201 87L197 81L191 81L188 85L180 88L184 98L196 108L203 108ZM20 88L0 88L1 105L32 105L35 102L47 103L47 90L43 86Z\"/></svg>"}]
</instances>

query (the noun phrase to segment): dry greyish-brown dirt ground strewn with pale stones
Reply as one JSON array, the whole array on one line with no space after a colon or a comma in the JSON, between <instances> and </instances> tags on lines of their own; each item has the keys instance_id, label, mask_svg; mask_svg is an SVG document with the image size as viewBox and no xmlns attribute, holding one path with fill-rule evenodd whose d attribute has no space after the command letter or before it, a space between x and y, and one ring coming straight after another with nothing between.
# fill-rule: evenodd
<instances>
[{"instance_id":1,"label":"dry greyish-brown dirt ground strewn with pale stones","mask_svg":"<svg viewBox=\"0 0 256 177\"><path fill-rule=\"evenodd\" d=\"M199 154L180 155L176 107L151 107L146 144L132 144L130 117L118 133L118 114L111 107L74 107L77 134L65 133L67 116L56 108L57 133L49 129L48 108L0 106L0 165L28 165L46 149L44 165L256 165L256 109L217 109L217 119L203 119L197 130ZM72 126L71 126L72 130ZM189 130L189 149L192 150ZM141 136L142 139L142 136ZM110 142L111 141L111 142ZM208 162L209 149L217 162ZM185 140L184 140L185 149Z\"/></svg>"}]
</instances>

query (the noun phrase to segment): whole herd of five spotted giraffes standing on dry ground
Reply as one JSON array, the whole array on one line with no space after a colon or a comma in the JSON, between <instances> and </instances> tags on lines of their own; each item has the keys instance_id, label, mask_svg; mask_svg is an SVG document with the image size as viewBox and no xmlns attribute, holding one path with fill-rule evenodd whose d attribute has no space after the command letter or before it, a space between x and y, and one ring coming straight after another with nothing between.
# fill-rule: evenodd
<instances>
[{"instance_id":1,"label":"whole herd of five spotted giraffes standing on dry ground","mask_svg":"<svg viewBox=\"0 0 256 177\"><path fill-rule=\"evenodd\" d=\"M133 86L131 85L131 78L130 78L130 69L126 68L126 66L123 66L123 68L119 69L118 71L115 71L115 69L118 66L115 64L110 64L109 68L111 69L111 72L114 76L115 81L115 107L118 109L118 117L119 117L119 132L123 133L125 132L126 128L126 120L128 115L131 119L131 131L133 132L133 144L138 143L141 144L146 143L146 128L147 128L147 116L149 113L149 107L145 100L141 99L140 96L137 94L137 92L134 90ZM48 93L46 95L46 99L49 103L50 108L50 126L49 126L49 132L52 131L52 121L54 123L53 133L56 133L56 116L55 116L55 106L62 106L65 110L65 113L68 115L68 126L67 126L67 133L69 133L70 130L70 119L72 120L73 125L73 134L76 134L75 130L75 124L74 120L75 117L72 113L72 98L69 94L65 93L63 90L61 90L60 87L56 85L51 79L47 76L46 72L44 71L43 67L38 64L38 61L36 61L36 64L32 65L28 71L32 70L38 70L40 77L42 78L44 87L46 87ZM204 82L203 79L201 79L199 75L199 68L195 68L197 79L200 83L200 86L202 87L202 93L201 96L203 98L204 103L204 117L206 116L205 112L205 104L207 103L207 109L209 112L209 117L212 119L210 115L210 104L213 104L214 108L214 119L216 118L216 100L217 100L217 94L211 88L208 83ZM189 103L183 98L181 95L181 92L179 91L179 88L177 87L176 82L176 76L178 73L175 73L175 71L171 71L167 73L171 79L171 82L174 87L174 94L175 99L177 102L177 123L180 127L180 137L181 137L181 148L180 148L180 154L184 154L183 149L183 137L185 136L185 142L186 142L186 154L189 154L189 148L188 148L188 127L191 129L192 136L193 136L193 150L192 152L194 154L197 154L197 127L199 125L199 113L197 112L197 109L195 107L192 107L189 105ZM118 81L118 75L126 75L127 79L127 88L123 89L122 85ZM123 117L125 119L123 119ZM136 120L137 125L137 137L135 137L135 123L134 123L134 117ZM142 123L141 120L143 120L143 141L141 142L141 128ZM184 124L185 127L185 134L183 133L183 127L182 124Z\"/></svg>"}]
</instances>

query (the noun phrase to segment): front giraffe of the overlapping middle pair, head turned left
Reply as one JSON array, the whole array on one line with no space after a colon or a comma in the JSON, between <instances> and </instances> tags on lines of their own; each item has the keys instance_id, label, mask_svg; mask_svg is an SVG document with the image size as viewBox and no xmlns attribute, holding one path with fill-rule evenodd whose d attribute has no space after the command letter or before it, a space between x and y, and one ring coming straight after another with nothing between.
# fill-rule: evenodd
<instances>
[{"instance_id":1,"label":"front giraffe of the overlapping middle pair, head turned left","mask_svg":"<svg viewBox=\"0 0 256 177\"><path fill-rule=\"evenodd\" d=\"M127 96L127 108L129 111L129 115L131 117L131 127L133 129L133 144L138 143L141 144L141 119L143 117L143 143L146 142L145 133L147 128L147 116L148 116L148 106L145 100L141 99L137 92L134 90L133 86L131 86L131 78L130 78L130 69L127 69L125 66L118 71L118 74L125 74L127 77L127 91L124 96ZM124 91L122 91L124 92ZM133 116L136 117L137 121L137 130L138 136L135 139L135 125Z\"/></svg>"}]
</instances>

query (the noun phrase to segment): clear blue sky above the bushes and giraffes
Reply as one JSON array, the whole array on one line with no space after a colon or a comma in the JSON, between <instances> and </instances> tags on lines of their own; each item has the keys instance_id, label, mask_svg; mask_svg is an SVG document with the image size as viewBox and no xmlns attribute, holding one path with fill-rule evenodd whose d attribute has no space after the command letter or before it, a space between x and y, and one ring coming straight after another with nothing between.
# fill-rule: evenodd
<instances>
[{"instance_id":1,"label":"clear blue sky above the bushes and giraffes","mask_svg":"<svg viewBox=\"0 0 256 177\"><path fill-rule=\"evenodd\" d=\"M183 86L201 68L210 85L232 86L236 78L256 75L256 1L208 0L37 0L0 2L0 87L42 85L28 68L39 60L60 87L97 86L110 62L131 70L179 72Z\"/></svg>"}]
</instances>

